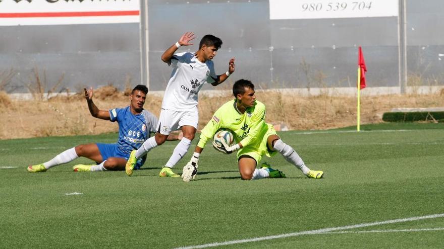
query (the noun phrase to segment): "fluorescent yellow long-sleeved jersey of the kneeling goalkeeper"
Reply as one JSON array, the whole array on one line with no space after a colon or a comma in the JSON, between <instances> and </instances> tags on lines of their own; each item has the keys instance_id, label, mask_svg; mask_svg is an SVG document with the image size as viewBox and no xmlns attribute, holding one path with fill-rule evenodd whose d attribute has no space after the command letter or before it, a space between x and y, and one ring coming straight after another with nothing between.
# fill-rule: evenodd
<instances>
[{"instance_id":1,"label":"fluorescent yellow long-sleeved jersey of the kneeling goalkeeper","mask_svg":"<svg viewBox=\"0 0 444 249\"><path fill-rule=\"evenodd\" d=\"M258 146L261 135L265 134L268 126L265 123L265 105L259 101L241 114L236 107L236 100L229 101L214 113L211 120L202 129L197 146L203 148L209 139L212 139L216 131L221 128L230 129L236 143L243 147Z\"/></svg>"}]
</instances>

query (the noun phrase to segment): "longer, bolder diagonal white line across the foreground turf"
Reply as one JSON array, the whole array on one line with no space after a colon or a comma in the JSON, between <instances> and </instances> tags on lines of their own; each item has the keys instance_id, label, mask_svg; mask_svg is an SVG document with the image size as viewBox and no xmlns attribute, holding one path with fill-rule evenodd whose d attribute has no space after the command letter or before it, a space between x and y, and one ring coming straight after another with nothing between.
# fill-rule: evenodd
<instances>
[{"instance_id":1,"label":"longer, bolder diagonal white line across the foreground turf","mask_svg":"<svg viewBox=\"0 0 444 249\"><path fill-rule=\"evenodd\" d=\"M402 218L402 219L395 219L395 220L376 221L376 222L372 222L372 223L362 223L362 224L348 225L348 226L321 228L321 229L316 229L316 230L284 233L284 234L264 236L264 237L255 237L255 238L231 240L231 241L224 241L224 242L214 242L214 243L208 243L208 244L190 245L190 246L177 247L176 249L207 248L207 247L214 247L214 246L221 246L221 245L240 244L240 243L247 243L247 242L270 240L270 239L276 239L276 238L295 237L295 236L307 235L307 234L320 234L320 233L339 231L339 230L347 230L347 229L354 229L354 228L361 228L361 227L368 227L368 226L377 226L377 225L386 225L386 224L393 224L393 223L400 223L400 222L407 222L407 221L414 221L414 220L433 219L433 218L440 218L440 217L444 217L444 213L432 214L432 215L426 215L426 216L410 217L410 218Z\"/></svg>"}]
</instances>

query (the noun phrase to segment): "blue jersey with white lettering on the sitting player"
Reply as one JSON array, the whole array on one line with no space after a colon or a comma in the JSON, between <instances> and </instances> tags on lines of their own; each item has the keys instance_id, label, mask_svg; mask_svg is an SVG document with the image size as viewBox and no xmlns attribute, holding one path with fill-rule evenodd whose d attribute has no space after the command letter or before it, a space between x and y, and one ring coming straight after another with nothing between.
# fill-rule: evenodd
<instances>
[{"instance_id":1,"label":"blue jersey with white lettering on the sitting player","mask_svg":"<svg viewBox=\"0 0 444 249\"><path fill-rule=\"evenodd\" d=\"M138 149L150 137L150 133L156 132L158 119L147 110L134 115L130 107L116 108L109 110L109 115L112 122L119 123L117 148L125 154Z\"/></svg>"}]
</instances>

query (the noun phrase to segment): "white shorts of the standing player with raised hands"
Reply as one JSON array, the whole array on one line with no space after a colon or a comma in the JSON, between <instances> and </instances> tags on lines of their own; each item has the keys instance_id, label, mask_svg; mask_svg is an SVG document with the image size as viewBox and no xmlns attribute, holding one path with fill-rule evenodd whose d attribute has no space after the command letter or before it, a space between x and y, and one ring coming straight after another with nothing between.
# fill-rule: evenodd
<instances>
[{"instance_id":1,"label":"white shorts of the standing player with raised hands","mask_svg":"<svg viewBox=\"0 0 444 249\"><path fill-rule=\"evenodd\" d=\"M160 111L157 132L163 135L169 135L171 131L176 131L184 125L190 125L197 129L199 122L198 111L173 111L162 109Z\"/></svg>"}]
</instances>

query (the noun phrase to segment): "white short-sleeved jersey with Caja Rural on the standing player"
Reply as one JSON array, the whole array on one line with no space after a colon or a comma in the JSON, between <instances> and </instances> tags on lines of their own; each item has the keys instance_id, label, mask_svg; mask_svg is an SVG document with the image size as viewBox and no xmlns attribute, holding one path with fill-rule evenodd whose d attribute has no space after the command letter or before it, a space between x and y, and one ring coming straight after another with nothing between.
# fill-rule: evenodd
<instances>
[{"instance_id":1,"label":"white short-sleeved jersey with Caja Rural on the standing player","mask_svg":"<svg viewBox=\"0 0 444 249\"><path fill-rule=\"evenodd\" d=\"M211 60L200 62L194 53L183 52L171 58L171 73L162 101L162 109L197 111L197 94L205 83L217 78Z\"/></svg>"}]
</instances>

